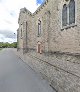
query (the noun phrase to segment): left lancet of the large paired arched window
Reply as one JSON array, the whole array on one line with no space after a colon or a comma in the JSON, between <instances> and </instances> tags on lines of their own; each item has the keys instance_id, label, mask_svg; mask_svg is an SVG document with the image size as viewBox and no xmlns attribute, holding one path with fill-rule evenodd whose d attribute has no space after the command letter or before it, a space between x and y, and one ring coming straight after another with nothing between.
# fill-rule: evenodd
<instances>
[{"instance_id":1,"label":"left lancet of the large paired arched window","mask_svg":"<svg viewBox=\"0 0 80 92\"><path fill-rule=\"evenodd\" d=\"M64 4L62 9L62 26L67 26L67 6Z\"/></svg>"}]
</instances>

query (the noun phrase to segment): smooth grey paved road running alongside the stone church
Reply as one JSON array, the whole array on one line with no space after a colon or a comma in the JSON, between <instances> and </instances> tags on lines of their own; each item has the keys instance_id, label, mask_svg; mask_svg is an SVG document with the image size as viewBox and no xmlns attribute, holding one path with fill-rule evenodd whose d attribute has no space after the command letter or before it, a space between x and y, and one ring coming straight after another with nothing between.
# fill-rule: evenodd
<instances>
[{"instance_id":1,"label":"smooth grey paved road running alongside the stone church","mask_svg":"<svg viewBox=\"0 0 80 92\"><path fill-rule=\"evenodd\" d=\"M0 51L0 92L55 92L12 49Z\"/></svg>"}]
</instances>

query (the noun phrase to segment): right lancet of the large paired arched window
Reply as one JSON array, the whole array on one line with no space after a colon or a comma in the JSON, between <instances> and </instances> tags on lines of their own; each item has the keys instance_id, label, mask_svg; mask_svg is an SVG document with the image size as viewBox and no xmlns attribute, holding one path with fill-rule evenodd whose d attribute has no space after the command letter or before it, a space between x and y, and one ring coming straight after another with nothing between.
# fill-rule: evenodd
<instances>
[{"instance_id":1,"label":"right lancet of the large paired arched window","mask_svg":"<svg viewBox=\"0 0 80 92\"><path fill-rule=\"evenodd\" d=\"M75 23L75 1L69 2L69 24Z\"/></svg>"}]
</instances>

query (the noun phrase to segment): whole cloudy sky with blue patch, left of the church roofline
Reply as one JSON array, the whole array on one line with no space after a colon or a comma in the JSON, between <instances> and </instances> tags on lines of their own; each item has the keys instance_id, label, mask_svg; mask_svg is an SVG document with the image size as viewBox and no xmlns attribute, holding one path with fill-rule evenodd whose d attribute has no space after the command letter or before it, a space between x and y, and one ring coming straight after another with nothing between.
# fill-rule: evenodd
<instances>
[{"instance_id":1,"label":"whole cloudy sky with blue patch, left of the church roofline","mask_svg":"<svg viewBox=\"0 0 80 92\"><path fill-rule=\"evenodd\" d=\"M44 0L0 0L0 42L16 42L18 17L21 8L32 13Z\"/></svg>"}]
</instances>

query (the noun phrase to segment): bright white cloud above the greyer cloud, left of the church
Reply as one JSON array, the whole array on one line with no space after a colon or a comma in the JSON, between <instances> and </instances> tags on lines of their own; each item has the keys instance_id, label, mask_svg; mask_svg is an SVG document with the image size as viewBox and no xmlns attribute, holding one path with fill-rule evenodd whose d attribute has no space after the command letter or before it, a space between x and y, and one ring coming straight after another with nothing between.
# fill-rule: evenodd
<instances>
[{"instance_id":1,"label":"bright white cloud above the greyer cloud, left of the church","mask_svg":"<svg viewBox=\"0 0 80 92\"><path fill-rule=\"evenodd\" d=\"M21 8L26 7L34 12L38 5L36 0L2 0L0 3L0 29L16 31L18 28L18 16ZM11 24L10 24L11 23Z\"/></svg>"}]
</instances>

